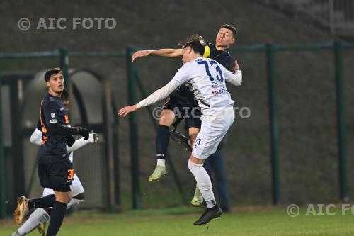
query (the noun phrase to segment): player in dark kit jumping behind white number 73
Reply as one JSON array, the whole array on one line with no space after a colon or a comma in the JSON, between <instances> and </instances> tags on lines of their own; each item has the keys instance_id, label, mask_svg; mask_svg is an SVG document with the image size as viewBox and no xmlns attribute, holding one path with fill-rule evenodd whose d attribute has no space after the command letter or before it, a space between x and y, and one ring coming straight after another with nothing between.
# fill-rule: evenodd
<instances>
[{"instance_id":1,"label":"player in dark kit jumping behind white number 73","mask_svg":"<svg viewBox=\"0 0 354 236\"><path fill-rule=\"evenodd\" d=\"M208 47L205 49L210 50L210 55L203 55L204 57L210 57L220 64L222 64L226 69L233 71L234 69L239 69L239 65L235 61L234 67L232 67L232 60L228 52L229 47L236 41L237 30L234 26L224 24L220 26L215 38L215 44L207 43ZM204 43L204 40L201 40ZM205 53L204 53L205 54ZM132 55L132 61L139 57L146 57L148 55L156 55L161 57L180 57L182 56L181 49L159 49L159 50L142 50L137 51ZM188 89L188 87L182 85L176 91L170 95L169 99L164 105L164 110L161 113L159 120L159 128L156 133L156 159L157 165L149 176L149 181L158 181L162 176L167 174L166 172L166 152L169 145L169 127L171 125L176 126L181 122L181 116L176 116L176 109L179 109L177 114L181 114L182 111L192 111L193 108L198 108L198 102L195 101L193 92ZM185 119L185 128L188 130L188 138L181 135L178 132L171 132L171 137L178 143L184 145L188 150L191 151L190 145L194 143L195 137L198 135L200 130L200 110L194 110L195 113L188 113L188 118ZM196 117L193 117L195 115ZM222 160L219 160L222 159ZM218 160L218 161L217 161ZM205 169L210 176L212 176L212 171L215 172L215 179L217 182L217 192L220 198L220 206L226 212L230 210L229 207L229 196L227 193L227 182L225 176L224 159L221 152L221 147L218 147L217 152L212 154L205 161ZM198 186L195 188L195 193L192 198L193 206L201 206L203 202L202 194L200 193Z\"/></svg>"}]
</instances>

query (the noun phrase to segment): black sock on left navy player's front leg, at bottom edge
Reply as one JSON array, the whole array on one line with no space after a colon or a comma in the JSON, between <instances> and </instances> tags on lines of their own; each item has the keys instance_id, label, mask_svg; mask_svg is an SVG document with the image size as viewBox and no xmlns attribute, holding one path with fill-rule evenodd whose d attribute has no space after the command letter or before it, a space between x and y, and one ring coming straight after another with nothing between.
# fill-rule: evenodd
<instances>
[{"instance_id":1,"label":"black sock on left navy player's front leg, at bottom edge","mask_svg":"<svg viewBox=\"0 0 354 236\"><path fill-rule=\"evenodd\" d=\"M63 223L65 210L67 209L66 203L55 201L50 213L50 224L48 226L47 236L55 236Z\"/></svg>"}]
</instances>

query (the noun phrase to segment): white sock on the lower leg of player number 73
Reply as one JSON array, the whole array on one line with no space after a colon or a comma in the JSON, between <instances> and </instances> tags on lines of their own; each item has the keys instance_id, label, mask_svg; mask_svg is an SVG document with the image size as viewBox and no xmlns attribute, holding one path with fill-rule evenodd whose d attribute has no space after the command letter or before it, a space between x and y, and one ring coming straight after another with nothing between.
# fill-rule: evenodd
<instances>
[{"instance_id":1,"label":"white sock on the lower leg of player number 73","mask_svg":"<svg viewBox=\"0 0 354 236\"><path fill-rule=\"evenodd\" d=\"M215 202L214 193L212 192L212 181L210 180L210 177L202 164L195 164L188 161L188 168L197 181L198 189L200 193L202 193L202 197L204 198L205 202Z\"/></svg>"}]
</instances>

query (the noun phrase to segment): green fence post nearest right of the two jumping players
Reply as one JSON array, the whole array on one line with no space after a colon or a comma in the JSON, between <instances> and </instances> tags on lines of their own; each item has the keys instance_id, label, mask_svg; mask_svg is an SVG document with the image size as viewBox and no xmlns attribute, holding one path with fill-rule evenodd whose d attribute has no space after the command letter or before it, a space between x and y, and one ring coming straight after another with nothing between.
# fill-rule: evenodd
<instances>
[{"instance_id":1,"label":"green fence post nearest right of the two jumping players","mask_svg":"<svg viewBox=\"0 0 354 236\"><path fill-rule=\"evenodd\" d=\"M278 121L275 103L275 48L272 44L266 45L267 76L268 76L268 106L270 122L270 159L272 169L272 197L273 204L280 203L280 175L278 159Z\"/></svg>"}]
</instances>

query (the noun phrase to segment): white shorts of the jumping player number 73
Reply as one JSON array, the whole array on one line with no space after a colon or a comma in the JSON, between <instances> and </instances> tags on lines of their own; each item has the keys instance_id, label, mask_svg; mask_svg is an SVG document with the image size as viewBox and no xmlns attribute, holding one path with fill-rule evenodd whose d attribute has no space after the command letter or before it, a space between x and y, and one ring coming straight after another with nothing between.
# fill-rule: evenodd
<instances>
[{"instance_id":1,"label":"white shorts of the jumping player number 73","mask_svg":"<svg viewBox=\"0 0 354 236\"><path fill-rule=\"evenodd\" d=\"M208 123L202 120L202 127L193 145L193 157L207 159L214 154L232 123L234 123L234 117L219 123Z\"/></svg>"}]
</instances>

